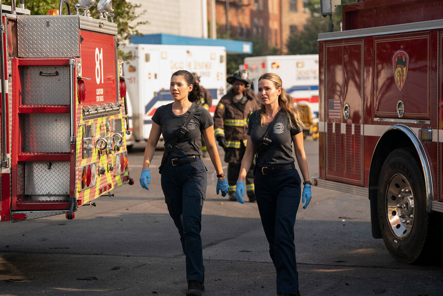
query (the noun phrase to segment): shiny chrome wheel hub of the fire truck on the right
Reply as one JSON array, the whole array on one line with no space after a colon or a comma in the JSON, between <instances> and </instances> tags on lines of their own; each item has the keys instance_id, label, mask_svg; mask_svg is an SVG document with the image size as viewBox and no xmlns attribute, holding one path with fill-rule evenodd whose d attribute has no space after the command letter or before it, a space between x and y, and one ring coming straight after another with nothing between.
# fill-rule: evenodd
<instances>
[{"instance_id":1,"label":"shiny chrome wheel hub of the fire truck on the right","mask_svg":"<svg viewBox=\"0 0 443 296\"><path fill-rule=\"evenodd\" d=\"M394 175L386 190L386 215L392 232L398 238L407 237L414 224L414 194L408 180Z\"/></svg>"}]
</instances>

